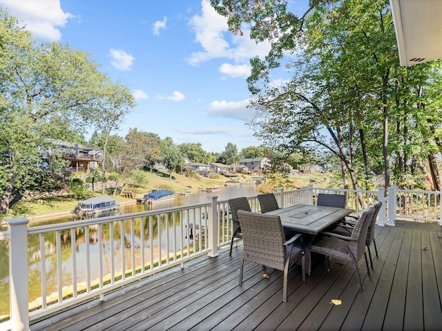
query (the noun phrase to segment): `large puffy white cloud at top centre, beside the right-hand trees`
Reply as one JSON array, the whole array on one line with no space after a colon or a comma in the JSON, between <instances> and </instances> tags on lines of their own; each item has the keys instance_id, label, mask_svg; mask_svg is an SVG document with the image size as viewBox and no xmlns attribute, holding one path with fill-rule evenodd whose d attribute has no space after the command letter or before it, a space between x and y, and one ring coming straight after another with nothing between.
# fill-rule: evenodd
<instances>
[{"instance_id":1,"label":"large puffy white cloud at top centre, beside the right-hand trees","mask_svg":"<svg viewBox=\"0 0 442 331\"><path fill-rule=\"evenodd\" d=\"M190 24L195 32L195 40L203 50L191 54L188 59L191 66L220 57L243 63L251 57L263 57L269 52L269 43L256 44L249 38L249 30L244 28L242 36L234 36L229 32L227 18L215 12L208 0L202 0L201 6L202 16L195 15ZM231 44L224 34L231 37Z\"/></svg>"}]
</instances>

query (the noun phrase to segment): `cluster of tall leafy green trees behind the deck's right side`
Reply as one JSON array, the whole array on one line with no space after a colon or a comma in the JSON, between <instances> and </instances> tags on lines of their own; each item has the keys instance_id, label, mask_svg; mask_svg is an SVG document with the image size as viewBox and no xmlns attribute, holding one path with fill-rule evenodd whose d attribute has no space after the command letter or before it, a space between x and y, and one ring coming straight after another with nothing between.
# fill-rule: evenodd
<instances>
[{"instance_id":1,"label":"cluster of tall leafy green trees behind the deck's right side","mask_svg":"<svg viewBox=\"0 0 442 331\"><path fill-rule=\"evenodd\" d=\"M389 1L311 1L307 16L288 14L287 26L285 1L246 2L212 4L234 32L252 23L251 37L272 43L264 60L251 61L256 135L281 152L309 143L329 150L340 159L345 187L349 178L353 188L361 180L369 188L373 174L387 187L392 166L396 185L419 176L416 165L434 159L439 139L429 132L441 127L440 61L399 66ZM269 84L283 57L291 81Z\"/></svg>"}]
</instances>

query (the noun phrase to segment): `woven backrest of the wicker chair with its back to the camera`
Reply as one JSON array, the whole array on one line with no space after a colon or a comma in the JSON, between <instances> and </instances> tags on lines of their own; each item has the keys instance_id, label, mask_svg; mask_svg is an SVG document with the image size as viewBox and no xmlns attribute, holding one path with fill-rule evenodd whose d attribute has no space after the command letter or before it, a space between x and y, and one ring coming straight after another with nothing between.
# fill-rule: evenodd
<instances>
[{"instance_id":1,"label":"woven backrest of the wicker chair with its back to the camera","mask_svg":"<svg viewBox=\"0 0 442 331\"><path fill-rule=\"evenodd\" d=\"M238 211L242 231L242 256L270 268L284 270L286 246L278 215Z\"/></svg>"}]
</instances>

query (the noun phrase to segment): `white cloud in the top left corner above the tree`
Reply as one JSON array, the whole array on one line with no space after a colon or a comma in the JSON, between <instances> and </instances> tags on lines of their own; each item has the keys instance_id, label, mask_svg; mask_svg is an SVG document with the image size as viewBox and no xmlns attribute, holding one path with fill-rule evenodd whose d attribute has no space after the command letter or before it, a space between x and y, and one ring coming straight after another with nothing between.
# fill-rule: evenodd
<instances>
[{"instance_id":1,"label":"white cloud in the top left corner above the tree","mask_svg":"<svg viewBox=\"0 0 442 331\"><path fill-rule=\"evenodd\" d=\"M8 12L19 17L35 37L58 41L62 28L75 16L61 9L59 0L1 0Z\"/></svg>"}]
</instances>

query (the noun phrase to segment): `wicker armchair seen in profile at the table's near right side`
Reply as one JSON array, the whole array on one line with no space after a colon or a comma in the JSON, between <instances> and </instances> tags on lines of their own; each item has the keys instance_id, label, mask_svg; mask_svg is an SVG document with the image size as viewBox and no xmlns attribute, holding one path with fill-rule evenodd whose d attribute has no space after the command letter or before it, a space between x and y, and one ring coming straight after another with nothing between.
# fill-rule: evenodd
<instances>
[{"instance_id":1,"label":"wicker armchair seen in profile at the table's near right side","mask_svg":"<svg viewBox=\"0 0 442 331\"><path fill-rule=\"evenodd\" d=\"M356 221L349 236L336 234L333 232L321 232L322 236L310 245L310 252L326 255L327 257L335 257L336 259L353 262L358 274L360 290L362 291L361 273L359 272L358 262L364 256L365 265L367 265L367 274L369 274L369 266L367 254L365 254L365 242L367 240L367 230L369 222L372 221L374 208L370 207L361 214Z\"/></svg>"}]
</instances>

